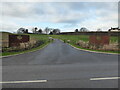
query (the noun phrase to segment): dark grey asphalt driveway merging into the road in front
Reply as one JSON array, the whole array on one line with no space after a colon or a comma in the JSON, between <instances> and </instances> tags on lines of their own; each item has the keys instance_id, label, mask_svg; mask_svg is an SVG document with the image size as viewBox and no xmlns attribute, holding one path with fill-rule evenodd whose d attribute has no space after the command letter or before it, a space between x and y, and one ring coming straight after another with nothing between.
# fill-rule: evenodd
<instances>
[{"instance_id":1,"label":"dark grey asphalt driveway merging into the road in front","mask_svg":"<svg viewBox=\"0 0 120 90\"><path fill-rule=\"evenodd\" d=\"M3 88L118 88L118 55L77 50L60 40L2 59Z\"/></svg>"}]
</instances>

